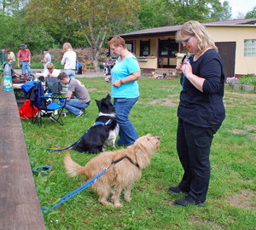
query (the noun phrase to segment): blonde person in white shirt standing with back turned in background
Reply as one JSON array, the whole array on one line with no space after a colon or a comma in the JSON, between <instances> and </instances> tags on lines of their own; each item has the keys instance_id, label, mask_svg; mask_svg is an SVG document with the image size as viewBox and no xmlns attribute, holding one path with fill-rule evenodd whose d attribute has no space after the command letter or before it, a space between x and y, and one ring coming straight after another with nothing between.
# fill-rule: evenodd
<instances>
[{"instance_id":1,"label":"blonde person in white shirt standing with back turned in background","mask_svg":"<svg viewBox=\"0 0 256 230\"><path fill-rule=\"evenodd\" d=\"M64 43L63 50L65 53L61 60L61 65L64 65L64 72L67 73L69 78L75 78L77 54L73 51L70 43Z\"/></svg>"}]
</instances>

